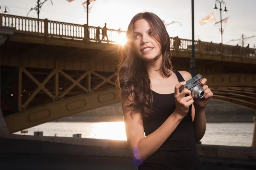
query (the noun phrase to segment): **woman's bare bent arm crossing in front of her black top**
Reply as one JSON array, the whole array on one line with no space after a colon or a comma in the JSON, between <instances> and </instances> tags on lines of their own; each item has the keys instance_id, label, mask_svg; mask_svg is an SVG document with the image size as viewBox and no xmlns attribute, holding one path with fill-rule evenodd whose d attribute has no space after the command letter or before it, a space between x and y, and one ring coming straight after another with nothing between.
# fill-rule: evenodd
<instances>
[{"instance_id":1,"label":"woman's bare bent arm crossing in front of her black top","mask_svg":"<svg viewBox=\"0 0 256 170\"><path fill-rule=\"evenodd\" d=\"M138 164L141 164L145 159L155 153L172 134L177 125L179 125L183 117L186 116L189 105L192 104L193 100L191 96L185 97L185 94L190 92L189 90L184 90L179 95L178 90L181 85L184 85L184 83L180 82L175 86L175 94L177 95L176 99L178 102L176 105L178 107L176 107L175 111L157 130L146 137L144 136L141 113L132 112L131 114L133 108L125 108L126 105L130 104L129 100L122 98L122 110L128 147L133 154L134 161ZM130 101L132 101L131 98Z\"/></svg>"}]
</instances>

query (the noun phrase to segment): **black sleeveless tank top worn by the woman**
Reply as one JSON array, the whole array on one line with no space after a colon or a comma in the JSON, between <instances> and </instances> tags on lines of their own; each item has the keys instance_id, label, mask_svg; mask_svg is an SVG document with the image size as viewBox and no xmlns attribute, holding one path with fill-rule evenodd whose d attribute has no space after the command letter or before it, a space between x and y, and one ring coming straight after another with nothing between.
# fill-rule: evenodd
<instances>
[{"instance_id":1,"label":"black sleeveless tank top worn by the woman","mask_svg":"<svg viewBox=\"0 0 256 170\"><path fill-rule=\"evenodd\" d=\"M179 82L185 81L178 71L173 71ZM153 95L153 113L143 118L145 135L148 136L160 127L175 111L175 98L172 94ZM191 116L192 105L173 133L163 145L138 170L199 170L199 160L195 147L195 131ZM154 142L154 141L152 141Z\"/></svg>"}]
</instances>

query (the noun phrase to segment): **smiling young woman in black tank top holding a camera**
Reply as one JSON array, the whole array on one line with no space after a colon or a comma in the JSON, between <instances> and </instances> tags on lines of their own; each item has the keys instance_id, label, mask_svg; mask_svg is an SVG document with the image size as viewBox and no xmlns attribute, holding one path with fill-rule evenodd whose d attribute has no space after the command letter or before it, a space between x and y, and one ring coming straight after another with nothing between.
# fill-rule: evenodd
<instances>
[{"instance_id":1,"label":"smiling young woman in black tank top holding a camera","mask_svg":"<svg viewBox=\"0 0 256 170\"><path fill-rule=\"evenodd\" d=\"M127 39L117 85L127 142L137 169L199 169L195 143L204 136L205 107L212 98L205 85L207 79L201 82L204 99L194 100L189 90L179 93L192 76L172 70L170 38L157 15L135 15Z\"/></svg>"}]
</instances>

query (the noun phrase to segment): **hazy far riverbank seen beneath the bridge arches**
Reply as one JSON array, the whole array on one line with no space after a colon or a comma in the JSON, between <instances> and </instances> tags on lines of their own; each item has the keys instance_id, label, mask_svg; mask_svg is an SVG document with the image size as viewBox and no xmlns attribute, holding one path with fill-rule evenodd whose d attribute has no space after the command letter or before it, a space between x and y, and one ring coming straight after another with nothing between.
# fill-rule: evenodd
<instances>
[{"instance_id":1,"label":"hazy far riverbank seen beneath the bridge arches","mask_svg":"<svg viewBox=\"0 0 256 170\"><path fill-rule=\"evenodd\" d=\"M220 102L212 99L206 108L206 121L208 123L253 123L255 111L233 105L226 102ZM55 122L122 122L121 103L108 105L102 108L96 108L90 111L70 115Z\"/></svg>"}]
</instances>

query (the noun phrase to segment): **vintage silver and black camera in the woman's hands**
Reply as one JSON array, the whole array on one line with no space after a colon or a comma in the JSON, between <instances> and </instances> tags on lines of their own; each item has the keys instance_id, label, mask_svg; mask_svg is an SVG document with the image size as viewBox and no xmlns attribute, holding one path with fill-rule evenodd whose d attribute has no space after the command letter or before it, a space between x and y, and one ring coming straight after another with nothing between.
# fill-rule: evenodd
<instances>
[{"instance_id":1,"label":"vintage silver and black camera in the woman's hands","mask_svg":"<svg viewBox=\"0 0 256 170\"><path fill-rule=\"evenodd\" d=\"M204 88L202 88L203 85L201 84L202 79L203 76L201 74L197 74L192 79L186 81L186 85L180 87L180 92L183 91L183 89L189 89L193 99L202 99L204 97Z\"/></svg>"}]
</instances>

